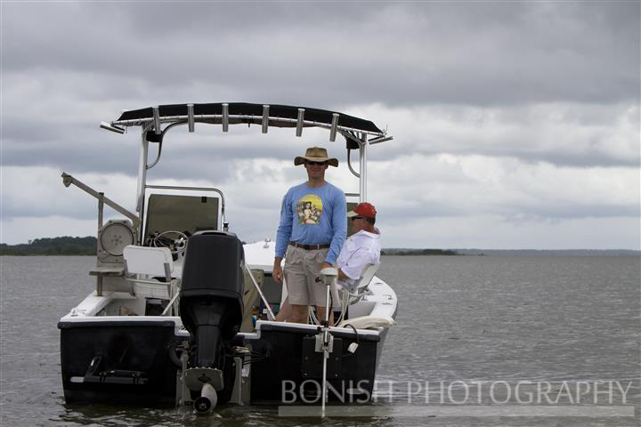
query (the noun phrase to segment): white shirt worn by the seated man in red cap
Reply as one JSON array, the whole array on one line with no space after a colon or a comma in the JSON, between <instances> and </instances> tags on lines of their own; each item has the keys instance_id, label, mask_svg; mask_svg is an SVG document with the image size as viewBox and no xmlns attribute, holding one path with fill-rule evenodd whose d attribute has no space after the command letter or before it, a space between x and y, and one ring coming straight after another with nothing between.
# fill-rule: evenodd
<instances>
[{"instance_id":1,"label":"white shirt worn by the seated man in red cap","mask_svg":"<svg viewBox=\"0 0 641 427\"><path fill-rule=\"evenodd\" d=\"M361 230L347 238L338 254L337 268L350 279L347 283L340 281L340 284L347 288L353 287L367 264L380 263L380 250L380 231L375 234Z\"/></svg>"}]
</instances>

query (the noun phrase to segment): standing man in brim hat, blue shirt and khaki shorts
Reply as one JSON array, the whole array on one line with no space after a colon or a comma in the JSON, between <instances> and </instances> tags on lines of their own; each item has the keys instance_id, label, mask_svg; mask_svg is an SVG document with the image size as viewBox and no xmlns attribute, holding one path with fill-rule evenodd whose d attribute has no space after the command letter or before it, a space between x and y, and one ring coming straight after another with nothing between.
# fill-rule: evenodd
<instances>
[{"instance_id":1,"label":"standing man in brim hat, blue shirt and khaki shorts","mask_svg":"<svg viewBox=\"0 0 641 427\"><path fill-rule=\"evenodd\" d=\"M276 234L276 256L272 277L288 286L292 306L290 320L307 323L307 307L316 306L318 318L325 318L326 287L320 271L336 263L347 234L345 193L325 181L325 171L338 166L326 149L312 147L294 165L304 165L307 181L288 190L280 207ZM287 252L287 253L286 253ZM283 271L283 256L287 263Z\"/></svg>"}]
</instances>

